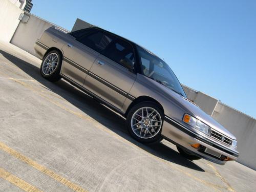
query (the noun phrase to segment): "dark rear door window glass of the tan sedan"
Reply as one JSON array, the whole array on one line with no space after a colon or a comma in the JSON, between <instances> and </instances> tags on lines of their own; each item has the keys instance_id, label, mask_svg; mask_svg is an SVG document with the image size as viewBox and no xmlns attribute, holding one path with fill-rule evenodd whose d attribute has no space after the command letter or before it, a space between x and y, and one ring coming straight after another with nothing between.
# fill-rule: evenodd
<instances>
[{"instance_id":1,"label":"dark rear door window glass of the tan sedan","mask_svg":"<svg viewBox=\"0 0 256 192\"><path fill-rule=\"evenodd\" d=\"M102 53L104 49L113 41L114 37L111 34L102 31L96 31L88 36L77 39L82 44Z\"/></svg>"}]
</instances>

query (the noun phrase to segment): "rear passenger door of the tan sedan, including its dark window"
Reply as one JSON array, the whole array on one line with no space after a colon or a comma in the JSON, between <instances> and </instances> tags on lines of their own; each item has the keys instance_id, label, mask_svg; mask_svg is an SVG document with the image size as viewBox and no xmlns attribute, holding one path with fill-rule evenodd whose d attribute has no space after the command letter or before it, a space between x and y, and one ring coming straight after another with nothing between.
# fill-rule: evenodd
<instances>
[{"instance_id":1,"label":"rear passenger door of the tan sedan, including its dark window","mask_svg":"<svg viewBox=\"0 0 256 192\"><path fill-rule=\"evenodd\" d=\"M62 48L64 55L61 74L82 86L93 62L112 39L95 28L79 30L70 35L74 38ZM94 45L100 44L102 39L105 40L104 44L94 49Z\"/></svg>"}]
</instances>

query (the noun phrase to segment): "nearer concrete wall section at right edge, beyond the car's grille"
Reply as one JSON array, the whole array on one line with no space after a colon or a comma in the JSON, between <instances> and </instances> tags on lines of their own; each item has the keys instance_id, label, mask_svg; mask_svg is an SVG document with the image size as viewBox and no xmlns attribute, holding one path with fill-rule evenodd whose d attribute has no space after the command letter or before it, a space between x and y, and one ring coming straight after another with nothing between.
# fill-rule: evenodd
<instances>
[{"instance_id":1,"label":"nearer concrete wall section at right edge, beyond the car's grille","mask_svg":"<svg viewBox=\"0 0 256 192\"><path fill-rule=\"evenodd\" d=\"M212 117L237 137L238 162L256 169L256 119L219 102Z\"/></svg>"}]
</instances>

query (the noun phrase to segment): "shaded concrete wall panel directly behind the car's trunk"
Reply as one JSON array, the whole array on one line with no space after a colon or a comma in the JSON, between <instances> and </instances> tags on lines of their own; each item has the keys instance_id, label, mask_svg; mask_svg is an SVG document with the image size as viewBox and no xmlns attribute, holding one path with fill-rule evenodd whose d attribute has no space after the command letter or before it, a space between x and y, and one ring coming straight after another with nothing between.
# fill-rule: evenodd
<instances>
[{"instance_id":1,"label":"shaded concrete wall panel directly behind the car's trunk","mask_svg":"<svg viewBox=\"0 0 256 192\"><path fill-rule=\"evenodd\" d=\"M40 38L42 33L51 26L58 27L44 19L41 19L33 14L26 13L29 16L28 22L20 22L15 31L11 44L22 48L23 50L35 55L34 44ZM59 27L63 31L69 32L66 29Z\"/></svg>"}]
</instances>

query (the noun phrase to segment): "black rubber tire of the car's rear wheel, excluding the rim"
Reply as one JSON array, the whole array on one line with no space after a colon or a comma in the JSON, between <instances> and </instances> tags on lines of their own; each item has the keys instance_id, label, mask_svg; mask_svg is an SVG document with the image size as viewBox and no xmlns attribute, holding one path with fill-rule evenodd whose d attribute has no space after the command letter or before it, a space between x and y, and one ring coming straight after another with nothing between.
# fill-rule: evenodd
<instances>
[{"instance_id":1,"label":"black rubber tire of the car's rear wheel, excluding the rim","mask_svg":"<svg viewBox=\"0 0 256 192\"><path fill-rule=\"evenodd\" d=\"M58 55L58 63L57 63L57 67L56 69L53 71L53 73L49 74L49 75L46 75L42 72L42 65L46 59L46 57L48 55L50 55L51 53L56 53ZM42 59L42 62L41 62L41 67L40 67L40 73L41 73L41 76L43 76L44 78L50 80L50 81L57 81L61 78L60 76L60 69L61 69L61 64L62 64L62 55L59 53L59 51L57 50L52 50L50 52L48 52L44 58Z\"/></svg>"}]
</instances>

